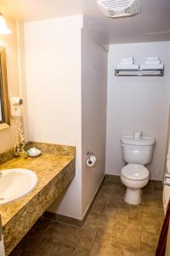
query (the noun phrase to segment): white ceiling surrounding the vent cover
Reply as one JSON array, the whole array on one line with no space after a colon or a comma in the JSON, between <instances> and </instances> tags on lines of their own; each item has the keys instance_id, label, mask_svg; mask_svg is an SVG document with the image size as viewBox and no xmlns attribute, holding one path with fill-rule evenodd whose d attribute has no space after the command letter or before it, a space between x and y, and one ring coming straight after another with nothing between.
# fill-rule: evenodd
<instances>
[{"instance_id":1,"label":"white ceiling surrounding the vent cover","mask_svg":"<svg viewBox=\"0 0 170 256\"><path fill-rule=\"evenodd\" d=\"M110 44L170 40L170 0L140 1L141 14L114 20L100 13L95 0L0 0L0 10L21 21L88 15Z\"/></svg>"}]
</instances>

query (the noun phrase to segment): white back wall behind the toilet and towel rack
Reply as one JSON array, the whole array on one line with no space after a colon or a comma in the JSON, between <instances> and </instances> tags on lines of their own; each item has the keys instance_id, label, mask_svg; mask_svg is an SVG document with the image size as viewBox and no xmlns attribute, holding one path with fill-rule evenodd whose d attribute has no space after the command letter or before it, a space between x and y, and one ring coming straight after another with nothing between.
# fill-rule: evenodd
<instances>
[{"instance_id":1,"label":"white back wall behind the toilet and towel rack","mask_svg":"<svg viewBox=\"0 0 170 256\"><path fill-rule=\"evenodd\" d=\"M133 55L137 63L146 55L159 55L165 65L164 77L115 77L117 62ZM161 180L167 139L170 92L170 42L110 45L107 94L106 173L120 175L120 138L134 130L156 137L150 178Z\"/></svg>"}]
</instances>

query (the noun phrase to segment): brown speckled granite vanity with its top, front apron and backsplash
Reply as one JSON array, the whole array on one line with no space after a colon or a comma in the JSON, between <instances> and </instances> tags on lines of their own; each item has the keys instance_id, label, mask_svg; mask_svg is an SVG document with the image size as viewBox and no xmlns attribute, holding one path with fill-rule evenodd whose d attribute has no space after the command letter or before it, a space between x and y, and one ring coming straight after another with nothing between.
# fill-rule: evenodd
<instances>
[{"instance_id":1,"label":"brown speckled granite vanity with its top, front apron and backsplash","mask_svg":"<svg viewBox=\"0 0 170 256\"><path fill-rule=\"evenodd\" d=\"M74 147L71 147L72 155L70 151L66 154L66 149L61 146L60 151L49 150L48 153L47 147L37 158L14 158L0 166L0 171L17 167L30 169L38 177L37 186L30 194L0 206L7 255L75 176ZM65 152L66 155L61 155L60 152Z\"/></svg>"}]
</instances>

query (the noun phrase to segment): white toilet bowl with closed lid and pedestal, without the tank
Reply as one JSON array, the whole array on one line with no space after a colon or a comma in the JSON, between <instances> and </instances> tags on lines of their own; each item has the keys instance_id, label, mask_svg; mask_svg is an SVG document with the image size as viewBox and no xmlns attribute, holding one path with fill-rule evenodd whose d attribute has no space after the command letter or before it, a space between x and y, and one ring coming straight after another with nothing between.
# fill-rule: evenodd
<instances>
[{"instance_id":1,"label":"white toilet bowl with closed lid and pedestal, without the tank","mask_svg":"<svg viewBox=\"0 0 170 256\"><path fill-rule=\"evenodd\" d=\"M149 182L150 172L142 165L122 167L121 180L127 187L124 200L131 205L141 203L141 189Z\"/></svg>"}]
</instances>

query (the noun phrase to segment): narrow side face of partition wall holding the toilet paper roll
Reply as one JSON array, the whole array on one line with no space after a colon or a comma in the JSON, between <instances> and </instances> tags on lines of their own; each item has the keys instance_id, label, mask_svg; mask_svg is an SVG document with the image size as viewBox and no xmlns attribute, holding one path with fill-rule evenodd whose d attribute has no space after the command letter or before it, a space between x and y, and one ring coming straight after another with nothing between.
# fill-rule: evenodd
<instances>
[{"instance_id":1,"label":"narrow side face of partition wall holding the toilet paper roll","mask_svg":"<svg viewBox=\"0 0 170 256\"><path fill-rule=\"evenodd\" d=\"M107 50L82 30L82 214L105 175ZM86 150L97 157L86 165Z\"/></svg>"}]
</instances>

